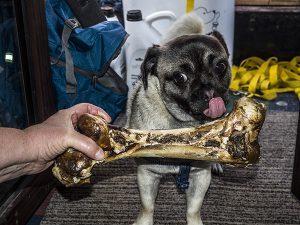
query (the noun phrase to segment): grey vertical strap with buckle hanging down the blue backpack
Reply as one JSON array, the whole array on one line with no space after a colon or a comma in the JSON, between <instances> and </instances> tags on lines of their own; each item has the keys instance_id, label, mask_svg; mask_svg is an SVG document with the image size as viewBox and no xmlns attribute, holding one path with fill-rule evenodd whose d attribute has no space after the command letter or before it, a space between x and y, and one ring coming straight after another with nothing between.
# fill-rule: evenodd
<instances>
[{"instance_id":1,"label":"grey vertical strap with buckle hanging down the blue backpack","mask_svg":"<svg viewBox=\"0 0 300 225\"><path fill-rule=\"evenodd\" d=\"M72 18L65 21L64 29L62 32L62 47L63 51L65 52L65 59L66 59L66 92L67 94L76 94L77 92L77 81L74 74L74 63L71 52L69 51L69 39L71 33L74 29L80 27L80 23L77 19Z\"/></svg>"}]
</instances>

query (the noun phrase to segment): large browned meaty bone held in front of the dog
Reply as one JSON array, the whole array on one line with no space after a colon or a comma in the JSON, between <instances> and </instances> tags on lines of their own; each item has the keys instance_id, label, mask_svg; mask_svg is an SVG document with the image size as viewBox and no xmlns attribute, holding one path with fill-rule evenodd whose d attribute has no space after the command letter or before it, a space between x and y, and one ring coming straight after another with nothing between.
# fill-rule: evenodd
<instances>
[{"instance_id":1,"label":"large browned meaty bone held in front of the dog","mask_svg":"<svg viewBox=\"0 0 300 225\"><path fill-rule=\"evenodd\" d=\"M104 150L95 161L69 148L59 156L53 174L66 186L89 182L95 164L128 157L161 157L249 165L260 157L258 134L265 119L265 106L243 97L223 119L174 130L134 130L107 125L103 119L82 115L77 129Z\"/></svg>"}]
</instances>

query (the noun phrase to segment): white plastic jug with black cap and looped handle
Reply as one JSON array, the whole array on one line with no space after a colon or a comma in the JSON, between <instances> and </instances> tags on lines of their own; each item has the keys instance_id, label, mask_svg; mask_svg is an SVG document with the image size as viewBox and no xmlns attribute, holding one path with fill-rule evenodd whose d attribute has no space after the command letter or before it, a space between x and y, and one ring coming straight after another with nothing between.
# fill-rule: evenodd
<instances>
[{"instance_id":1,"label":"white plastic jug with black cap and looped handle","mask_svg":"<svg viewBox=\"0 0 300 225\"><path fill-rule=\"evenodd\" d=\"M170 25L176 20L176 16L170 11L159 11L143 19L140 10L129 10L125 15L127 15L125 29L129 37L124 45L124 49L126 55L127 85L130 90L140 76L140 67L147 49L154 44L159 44L161 40L161 30L153 26L153 24L163 20L167 21Z\"/></svg>"}]
</instances>

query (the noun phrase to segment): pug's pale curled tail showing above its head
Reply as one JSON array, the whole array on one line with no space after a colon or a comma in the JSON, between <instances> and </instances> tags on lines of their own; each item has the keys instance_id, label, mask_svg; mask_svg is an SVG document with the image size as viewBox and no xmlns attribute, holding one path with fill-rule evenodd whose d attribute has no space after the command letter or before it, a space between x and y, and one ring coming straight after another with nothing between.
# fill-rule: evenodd
<instances>
[{"instance_id":1,"label":"pug's pale curled tail showing above its head","mask_svg":"<svg viewBox=\"0 0 300 225\"><path fill-rule=\"evenodd\" d=\"M182 35L203 34L204 23L195 13L185 14L177 19L162 38L162 43L180 37Z\"/></svg>"}]
</instances>

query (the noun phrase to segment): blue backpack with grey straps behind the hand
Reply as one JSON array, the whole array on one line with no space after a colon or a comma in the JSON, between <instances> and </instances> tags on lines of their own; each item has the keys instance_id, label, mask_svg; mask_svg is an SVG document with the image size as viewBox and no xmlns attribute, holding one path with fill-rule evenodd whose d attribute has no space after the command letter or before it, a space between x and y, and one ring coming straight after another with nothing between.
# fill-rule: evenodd
<instances>
[{"instance_id":1,"label":"blue backpack with grey straps behind the hand","mask_svg":"<svg viewBox=\"0 0 300 225\"><path fill-rule=\"evenodd\" d=\"M109 66L127 38L122 25L104 21L82 28L64 0L46 1L46 20L57 108L88 102L115 119L128 92Z\"/></svg>"}]
</instances>

